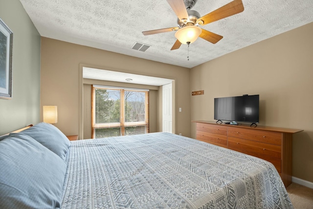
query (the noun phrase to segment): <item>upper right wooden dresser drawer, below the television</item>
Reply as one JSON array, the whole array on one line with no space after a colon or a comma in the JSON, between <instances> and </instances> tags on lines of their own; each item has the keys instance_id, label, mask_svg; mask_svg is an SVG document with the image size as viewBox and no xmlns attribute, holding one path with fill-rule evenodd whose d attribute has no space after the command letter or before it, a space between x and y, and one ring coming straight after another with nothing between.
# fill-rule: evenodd
<instances>
[{"instance_id":1,"label":"upper right wooden dresser drawer, below the television","mask_svg":"<svg viewBox=\"0 0 313 209\"><path fill-rule=\"evenodd\" d=\"M228 127L228 136L276 145L281 145L282 140L282 133L280 132L238 127Z\"/></svg>"}]
</instances>

